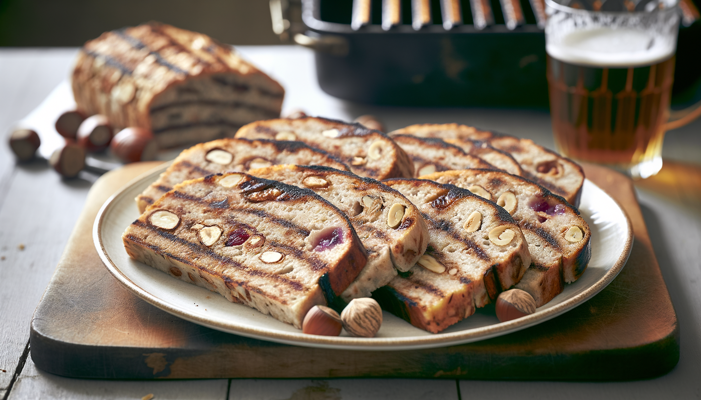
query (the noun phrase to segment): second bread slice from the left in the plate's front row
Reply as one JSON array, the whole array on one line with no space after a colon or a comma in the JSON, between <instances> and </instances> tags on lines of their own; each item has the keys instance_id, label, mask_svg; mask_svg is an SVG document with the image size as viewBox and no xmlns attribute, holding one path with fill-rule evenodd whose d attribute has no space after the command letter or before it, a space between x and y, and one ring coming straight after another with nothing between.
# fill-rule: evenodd
<instances>
[{"instance_id":1,"label":"second bread slice from the left in the plate's front row","mask_svg":"<svg viewBox=\"0 0 701 400\"><path fill-rule=\"evenodd\" d=\"M379 181L329 167L300 165L276 165L250 174L310 188L348 215L367 250L367 264L341 294L346 302L369 297L390 282L397 270L406 272L414 266L426 251L428 228L416 206Z\"/></svg>"}]
</instances>

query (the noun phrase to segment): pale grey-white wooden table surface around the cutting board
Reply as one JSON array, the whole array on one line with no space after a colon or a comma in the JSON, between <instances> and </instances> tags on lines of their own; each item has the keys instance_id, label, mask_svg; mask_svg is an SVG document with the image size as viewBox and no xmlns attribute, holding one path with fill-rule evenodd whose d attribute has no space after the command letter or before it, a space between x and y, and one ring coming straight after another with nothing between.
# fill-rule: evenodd
<instances>
[{"instance_id":1,"label":"pale grey-white wooden table surface around the cutting board","mask_svg":"<svg viewBox=\"0 0 701 400\"><path fill-rule=\"evenodd\" d=\"M552 147L545 110L430 109L354 104L318 87L304 48L242 47L282 83L283 113L351 120L372 113L389 130L412 123L457 122L528 137ZM32 111L67 78L76 49L0 50L0 132ZM6 140L6 139L3 139ZM660 378L635 382L475 380L176 380L62 378L38 370L29 354L29 322L81 212L90 174L61 179L46 163L16 165L0 145L0 399L621 399L701 396L701 120L669 132L665 166L639 181L639 202L681 326L681 357Z\"/></svg>"}]
</instances>

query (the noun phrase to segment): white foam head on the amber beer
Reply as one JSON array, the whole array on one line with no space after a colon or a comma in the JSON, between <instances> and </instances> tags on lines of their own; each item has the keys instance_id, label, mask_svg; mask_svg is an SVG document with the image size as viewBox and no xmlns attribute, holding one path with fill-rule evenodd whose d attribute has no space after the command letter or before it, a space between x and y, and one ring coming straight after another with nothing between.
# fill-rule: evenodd
<instances>
[{"instance_id":1,"label":"white foam head on the amber beer","mask_svg":"<svg viewBox=\"0 0 701 400\"><path fill-rule=\"evenodd\" d=\"M595 67L637 67L672 57L676 36L656 35L639 29L597 27L563 34L548 41L547 54L571 64Z\"/></svg>"}]
</instances>

